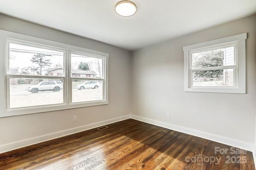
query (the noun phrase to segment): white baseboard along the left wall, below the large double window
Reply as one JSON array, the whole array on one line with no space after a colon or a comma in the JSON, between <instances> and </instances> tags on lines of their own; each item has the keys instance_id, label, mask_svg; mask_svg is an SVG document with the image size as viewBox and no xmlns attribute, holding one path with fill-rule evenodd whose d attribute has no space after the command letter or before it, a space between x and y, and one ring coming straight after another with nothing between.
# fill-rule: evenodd
<instances>
[{"instance_id":1,"label":"white baseboard along the left wall, below the large double window","mask_svg":"<svg viewBox=\"0 0 256 170\"><path fill-rule=\"evenodd\" d=\"M80 126L80 127L74 127L71 129L67 129L67 130L62 130L62 131L58 131L55 133L50 133L47 135L43 135L43 136L37 136L34 138L30 138L30 139L25 139L25 140L21 140L21 141L17 141L17 142L13 142L13 143L9 143L9 144L3 144L0 145L0 153L4 153L4 152L8 152L10 150L15 150L21 147L26 147L32 144L37 144L37 143L41 143L41 142L45 142L51 139L56 139L62 136L67 136L73 133L78 133L84 130L89 130L89 129L93 129L95 127L99 127L99 126L104 126L104 125L108 125L114 122L119 122L125 119L129 119L131 118L131 115L126 115L126 116L121 116L121 117L117 117L114 119L108 119L102 122L96 122L96 123L92 123L89 125L84 125L84 126Z\"/></svg>"}]
</instances>

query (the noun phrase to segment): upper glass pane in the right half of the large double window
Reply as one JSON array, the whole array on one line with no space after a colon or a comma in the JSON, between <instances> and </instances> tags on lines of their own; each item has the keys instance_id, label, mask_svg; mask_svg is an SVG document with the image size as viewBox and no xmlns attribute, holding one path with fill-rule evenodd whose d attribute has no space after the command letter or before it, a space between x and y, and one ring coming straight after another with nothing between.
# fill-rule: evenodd
<instances>
[{"instance_id":1,"label":"upper glass pane in the right half of the large double window","mask_svg":"<svg viewBox=\"0 0 256 170\"><path fill-rule=\"evenodd\" d=\"M102 78L102 59L71 54L71 77Z\"/></svg>"}]
</instances>

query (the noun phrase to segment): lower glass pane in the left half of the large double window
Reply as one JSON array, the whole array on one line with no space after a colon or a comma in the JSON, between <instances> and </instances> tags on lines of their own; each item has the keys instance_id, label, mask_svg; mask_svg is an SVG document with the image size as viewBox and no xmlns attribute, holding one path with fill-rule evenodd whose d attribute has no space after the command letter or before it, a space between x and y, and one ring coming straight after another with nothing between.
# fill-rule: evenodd
<instances>
[{"instance_id":1,"label":"lower glass pane in the left half of the large double window","mask_svg":"<svg viewBox=\"0 0 256 170\"><path fill-rule=\"evenodd\" d=\"M55 84L55 80L61 84ZM63 79L10 78L10 108L63 103L62 82Z\"/></svg>"}]
</instances>

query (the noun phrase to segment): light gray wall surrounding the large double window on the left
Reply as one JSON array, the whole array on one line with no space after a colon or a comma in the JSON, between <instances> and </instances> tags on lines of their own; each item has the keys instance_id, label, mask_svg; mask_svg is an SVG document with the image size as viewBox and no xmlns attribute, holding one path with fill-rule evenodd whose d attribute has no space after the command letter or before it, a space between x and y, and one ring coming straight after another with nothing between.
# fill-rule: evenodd
<instances>
[{"instance_id":1,"label":"light gray wall surrounding the large double window on the left","mask_svg":"<svg viewBox=\"0 0 256 170\"><path fill-rule=\"evenodd\" d=\"M0 118L0 145L131 113L130 51L8 17L3 14L0 14L0 29L76 45L109 54L108 105ZM3 66L3 64L0 65L0 71L4 71ZM3 77L1 77L1 79L3 79ZM75 115L78 118L77 122L73 122L73 116Z\"/></svg>"}]
</instances>

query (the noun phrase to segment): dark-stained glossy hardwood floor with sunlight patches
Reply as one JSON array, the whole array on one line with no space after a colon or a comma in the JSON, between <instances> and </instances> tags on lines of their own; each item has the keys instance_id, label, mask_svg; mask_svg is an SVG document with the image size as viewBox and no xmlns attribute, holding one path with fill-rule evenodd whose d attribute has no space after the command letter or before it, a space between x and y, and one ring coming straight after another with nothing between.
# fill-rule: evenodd
<instances>
[{"instance_id":1,"label":"dark-stained glossy hardwood floor with sunlight patches","mask_svg":"<svg viewBox=\"0 0 256 170\"><path fill-rule=\"evenodd\" d=\"M134 119L107 126L2 153L0 170L255 170L249 151Z\"/></svg>"}]
</instances>

